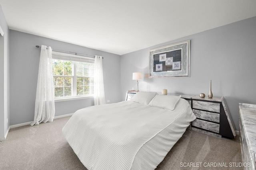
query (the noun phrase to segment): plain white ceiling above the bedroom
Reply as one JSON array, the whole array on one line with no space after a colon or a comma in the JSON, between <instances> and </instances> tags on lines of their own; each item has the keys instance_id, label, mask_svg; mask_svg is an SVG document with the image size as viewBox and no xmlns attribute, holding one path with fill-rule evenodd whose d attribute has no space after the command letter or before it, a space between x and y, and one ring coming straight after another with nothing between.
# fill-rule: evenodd
<instances>
[{"instance_id":1,"label":"plain white ceiling above the bedroom","mask_svg":"<svg viewBox=\"0 0 256 170\"><path fill-rule=\"evenodd\" d=\"M10 29L118 55L256 16L256 0L0 0L0 4Z\"/></svg>"}]
</instances>

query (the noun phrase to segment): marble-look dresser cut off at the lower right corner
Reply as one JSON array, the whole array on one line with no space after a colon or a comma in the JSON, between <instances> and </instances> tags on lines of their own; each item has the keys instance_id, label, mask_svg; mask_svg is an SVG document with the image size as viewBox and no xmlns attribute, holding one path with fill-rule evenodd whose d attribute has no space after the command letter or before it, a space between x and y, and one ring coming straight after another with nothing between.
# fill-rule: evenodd
<instances>
[{"instance_id":1,"label":"marble-look dresser cut off at the lower right corner","mask_svg":"<svg viewBox=\"0 0 256 170\"><path fill-rule=\"evenodd\" d=\"M239 104L239 136L245 170L256 169L256 105Z\"/></svg>"}]
</instances>

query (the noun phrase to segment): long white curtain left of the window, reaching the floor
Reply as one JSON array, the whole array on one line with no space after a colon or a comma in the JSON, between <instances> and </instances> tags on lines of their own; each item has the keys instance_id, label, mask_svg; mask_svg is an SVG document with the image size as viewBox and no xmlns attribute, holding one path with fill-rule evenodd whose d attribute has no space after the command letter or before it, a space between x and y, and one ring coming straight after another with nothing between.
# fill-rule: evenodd
<instances>
[{"instance_id":1,"label":"long white curtain left of the window, reaching the floor","mask_svg":"<svg viewBox=\"0 0 256 170\"><path fill-rule=\"evenodd\" d=\"M54 118L54 84L52 75L52 49L42 45L38 80L36 88L36 104L34 121L30 125L39 125Z\"/></svg>"}]
</instances>

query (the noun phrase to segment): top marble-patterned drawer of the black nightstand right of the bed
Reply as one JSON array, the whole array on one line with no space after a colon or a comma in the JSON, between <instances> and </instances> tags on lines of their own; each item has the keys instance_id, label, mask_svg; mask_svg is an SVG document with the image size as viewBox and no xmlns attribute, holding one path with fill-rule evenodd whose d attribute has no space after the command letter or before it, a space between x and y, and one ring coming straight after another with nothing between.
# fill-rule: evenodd
<instances>
[{"instance_id":1,"label":"top marble-patterned drawer of the black nightstand right of the bed","mask_svg":"<svg viewBox=\"0 0 256 170\"><path fill-rule=\"evenodd\" d=\"M193 100L193 109L201 109L220 113L220 104Z\"/></svg>"}]
</instances>

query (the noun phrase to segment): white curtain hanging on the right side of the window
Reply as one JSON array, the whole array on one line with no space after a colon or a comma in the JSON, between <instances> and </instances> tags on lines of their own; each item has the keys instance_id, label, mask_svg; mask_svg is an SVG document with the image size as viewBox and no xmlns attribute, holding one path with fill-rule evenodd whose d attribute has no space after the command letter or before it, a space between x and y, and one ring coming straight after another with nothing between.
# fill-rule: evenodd
<instances>
[{"instance_id":1,"label":"white curtain hanging on the right side of the window","mask_svg":"<svg viewBox=\"0 0 256 170\"><path fill-rule=\"evenodd\" d=\"M94 61L94 105L105 103L102 57L96 55Z\"/></svg>"}]
</instances>

